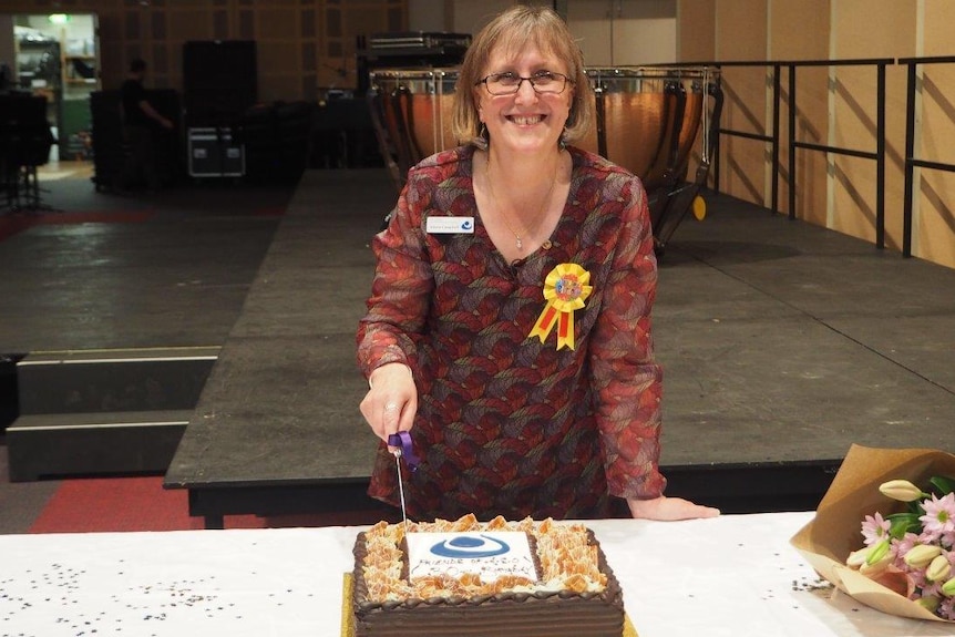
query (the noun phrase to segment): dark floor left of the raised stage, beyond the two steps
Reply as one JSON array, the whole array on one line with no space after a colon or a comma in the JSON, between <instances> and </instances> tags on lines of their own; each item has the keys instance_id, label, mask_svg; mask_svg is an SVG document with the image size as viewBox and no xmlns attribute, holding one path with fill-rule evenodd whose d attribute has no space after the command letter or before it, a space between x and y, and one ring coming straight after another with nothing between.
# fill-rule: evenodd
<instances>
[{"instance_id":1,"label":"dark floor left of the raised stage, beyond the two steps","mask_svg":"<svg viewBox=\"0 0 955 637\"><path fill-rule=\"evenodd\" d=\"M0 209L29 225L0 243L0 353L219 345L294 188L41 185L57 212Z\"/></svg>"}]
</instances>

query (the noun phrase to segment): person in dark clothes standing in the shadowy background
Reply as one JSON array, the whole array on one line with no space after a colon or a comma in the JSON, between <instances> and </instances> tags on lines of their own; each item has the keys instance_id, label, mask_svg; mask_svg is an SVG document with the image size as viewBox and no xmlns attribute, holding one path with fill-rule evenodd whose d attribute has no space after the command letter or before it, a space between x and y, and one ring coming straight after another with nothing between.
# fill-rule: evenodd
<instances>
[{"instance_id":1,"label":"person in dark clothes standing in the shadowy background","mask_svg":"<svg viewBox=\"0 0 955 637\"><path fill-rule=\"evenodd\" d=\"M130 72L120 88L123 137L130 157L124 164L123 185L145 181L150 191L162 185L158 162L156 161L155 129L173 130L173 122L160 113L148 101L143 80L146 63L135 59L130 63Z\"/></svg>"}]
</instances>

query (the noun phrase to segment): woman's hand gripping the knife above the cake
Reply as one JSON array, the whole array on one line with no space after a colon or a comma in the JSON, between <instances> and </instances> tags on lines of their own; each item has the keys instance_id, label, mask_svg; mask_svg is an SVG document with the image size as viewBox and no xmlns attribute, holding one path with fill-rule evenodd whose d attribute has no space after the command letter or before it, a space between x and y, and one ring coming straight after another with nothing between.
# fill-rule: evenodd
<instances>
[{"instance_id":1,"label":"woman's hand gripping the knife above the cake","mask_svg":"<svg viewBox=\"0 0 955 637\"><path fill-rule=\"evenodd\" d=\"M418 411L418 388L411 369L400 362L383 364L368 378L371 386L361 400L361 415L374 435L388 442L399 431L410 431Z\"/></svg>"}]
</instances>

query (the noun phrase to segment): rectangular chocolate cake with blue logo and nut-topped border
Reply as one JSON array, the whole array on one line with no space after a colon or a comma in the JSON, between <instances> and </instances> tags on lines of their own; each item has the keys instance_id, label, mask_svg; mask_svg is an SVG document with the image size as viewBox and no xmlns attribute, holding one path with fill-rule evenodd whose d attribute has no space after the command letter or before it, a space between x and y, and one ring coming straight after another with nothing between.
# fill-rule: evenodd
<instances>
[{"instance_id":1,"label":"rectangular chocolate cake with blue logo and nut-topped border","mask_svg":"<svg viewBox=\"0 0 955 637\"><path fill-rule=\"evenodd\" d=\"M516 575L503 573L501 564L506 559L502 557L491 567L494 574L489 577L486 567L469 571L449 558L448 573L435 574L434 565L429 564L427 574L410 577L404 525L381 522L359 534L355 545L356 637L620 637L623 634L619 583L593 532L581 524L530 518L506 522L500 517L479 523L469 515L455 522L409 523L408 532L460 534L468 541L459 546L483 556L500 553L496 547L505 542L513 543L509 533L524 533L532 548L534 569L522 567ZM504 534L494 535L495 532ZM495 548L483 551L476 545L475 533L485 536ZM441 537L441 543L445 543L446 536ZM423 572L417 566L415 571ZM531 573L536 573L536 581Z\"/></svg>"}]
</instances>

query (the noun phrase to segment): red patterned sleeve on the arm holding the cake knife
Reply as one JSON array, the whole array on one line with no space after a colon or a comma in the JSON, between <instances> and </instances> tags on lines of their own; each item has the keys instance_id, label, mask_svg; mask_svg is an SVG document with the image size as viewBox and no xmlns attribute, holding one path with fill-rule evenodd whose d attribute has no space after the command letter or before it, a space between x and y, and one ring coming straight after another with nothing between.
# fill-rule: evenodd
<instances>
[{"instance_id":1,"label":"red patterned sleeve on the arm holding the cake knife","mask_svg":"<svg viewBox=\"0 0 955 637\"><path fill-rule=\"evenodd\" d=\"M371 247L378 261L368 314L358 326L358 364L366 378L389 362L415 369L417 336L434 281L422 228L430 183L415 171L398 197L388 228L374 236Z\"/></svg>"}]
</instances>

